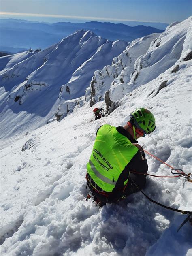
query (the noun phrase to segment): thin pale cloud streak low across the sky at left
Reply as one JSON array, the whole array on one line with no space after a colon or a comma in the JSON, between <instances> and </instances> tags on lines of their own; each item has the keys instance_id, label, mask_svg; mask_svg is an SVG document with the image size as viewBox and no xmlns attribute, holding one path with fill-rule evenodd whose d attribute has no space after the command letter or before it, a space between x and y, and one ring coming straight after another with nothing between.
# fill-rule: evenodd
<instances>
[{"instance_id":1,"label":"thin pale cloud streak low across the sky at left","mask_svg":"<svg viewBox=\"0 0 192 256\"><path fill-rule=\"evenodd\" d=\"M102 18L102 17L87 17L87 16L70 16L70 15L57 15L57 14L40 14L40 13L10 13L0 12L0 15L17 15L17 16L32 16L32 17L53 17L53 18L68 18L68 19L91 19L103 21L136 21L133 19L116 19L116 18Z\"/></svg>"}]
</instances>

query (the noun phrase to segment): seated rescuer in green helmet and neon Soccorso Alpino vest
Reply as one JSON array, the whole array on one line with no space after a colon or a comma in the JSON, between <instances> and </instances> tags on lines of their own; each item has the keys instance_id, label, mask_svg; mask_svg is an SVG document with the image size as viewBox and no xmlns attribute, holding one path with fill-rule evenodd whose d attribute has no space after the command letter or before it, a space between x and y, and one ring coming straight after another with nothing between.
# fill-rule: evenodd
<instances>
[{"instance_id":1,"label":"seated rescuer in green helmet and neon Soccorso Alpino vest","mask_svg":"<svg viewBox=\"0 0 192 256\"><path fill-rule=\"evenodd\" d=\"M114 203L144 188L148 165L139 137L155 130L154 115L139 108L130 114L124 126L101 126L96 133L92 154L87 164L87 186L99 206ZM133 182L134 181L134 182ZM90 198L90 194L87 198Z\"/></svg>"}]
</instances>

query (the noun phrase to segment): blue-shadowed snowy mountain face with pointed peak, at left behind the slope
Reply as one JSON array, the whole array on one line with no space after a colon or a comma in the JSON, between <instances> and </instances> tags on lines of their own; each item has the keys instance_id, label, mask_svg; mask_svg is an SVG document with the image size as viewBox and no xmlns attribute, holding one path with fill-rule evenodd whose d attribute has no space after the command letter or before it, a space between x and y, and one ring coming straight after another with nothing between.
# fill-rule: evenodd
<instances>
[{"instance_id":1,"label":"blue-shadowed snowy mountain face with pointed peak, at left behind the slope","mask_svg":"<svg viewBox=\"0 0 192 256\"><path fill-rule=\"evenodd\" d=\"M79 30L36 54L0 58L1 135L46 124L60 103L85 95L94 71L111 64L127 45Z\"/></svg>"}]
</instances>

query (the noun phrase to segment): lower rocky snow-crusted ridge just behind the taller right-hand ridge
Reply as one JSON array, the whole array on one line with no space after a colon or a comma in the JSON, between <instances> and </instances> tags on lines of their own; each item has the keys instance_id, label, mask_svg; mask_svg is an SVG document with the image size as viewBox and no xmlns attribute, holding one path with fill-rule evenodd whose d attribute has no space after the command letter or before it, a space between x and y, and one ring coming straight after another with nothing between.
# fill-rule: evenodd
<instances>
[{"instance_id":1,"label":"lower rocky snow-crusted ridge just behind the taller right-hand ridge","mask_svg":"<svg viewBox=\"0 0 192 256\"><path fill-rule=\"evenodd\" d=\"M102 70L97 70L94 72L94 76L91 81L91 86L86 91L86 100L90 100L90 107L96 102L103 100L103 95L105 95L105 101L107 102L107 109L111 106L112 102L116 102L116 99L109 99L108 90L114 91L115 95L124 95L126 91L126 85L131 79L131 75L135 70L135 61L139 56L146 53L149 45L154 39L158 37L159 34L151 34L150 36L145 36L134 40L127 49L123 51L119 56L113 58L111 66L105 66ZM140 69L142 65L138 62ZM135 73L134 79L136 80L139 73ZM117 91L116 92L116 87ZM130 90L130 87L128 87ZM106 94L105 94L106 92ZM90 96L89 96L90 93Z\"/></svg>"}]
</instances>

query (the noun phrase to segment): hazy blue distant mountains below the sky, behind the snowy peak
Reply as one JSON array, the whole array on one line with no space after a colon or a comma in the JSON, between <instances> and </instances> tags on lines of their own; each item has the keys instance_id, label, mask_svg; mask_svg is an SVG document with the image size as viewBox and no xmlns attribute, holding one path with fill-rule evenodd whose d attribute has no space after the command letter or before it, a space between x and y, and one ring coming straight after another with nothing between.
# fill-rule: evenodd
<instances>
[{"instance_id":1,"label":"hazy blue distant mountains below the sky, behind the snowy peak","mask_svg":"<svg viewBox=\"0 0 192 256\"><path fill-rule=\"evenodd\" d=\"M81 29L91 30L98 36L111 41L121 39L127 42L152 33L164 32L164 30L151 26L138 25L131 27L110 22L58 22L51 24L17 19L0 19L0 51L17 53L30 47L45 49Z\"/></svg>"}]
</instances>

